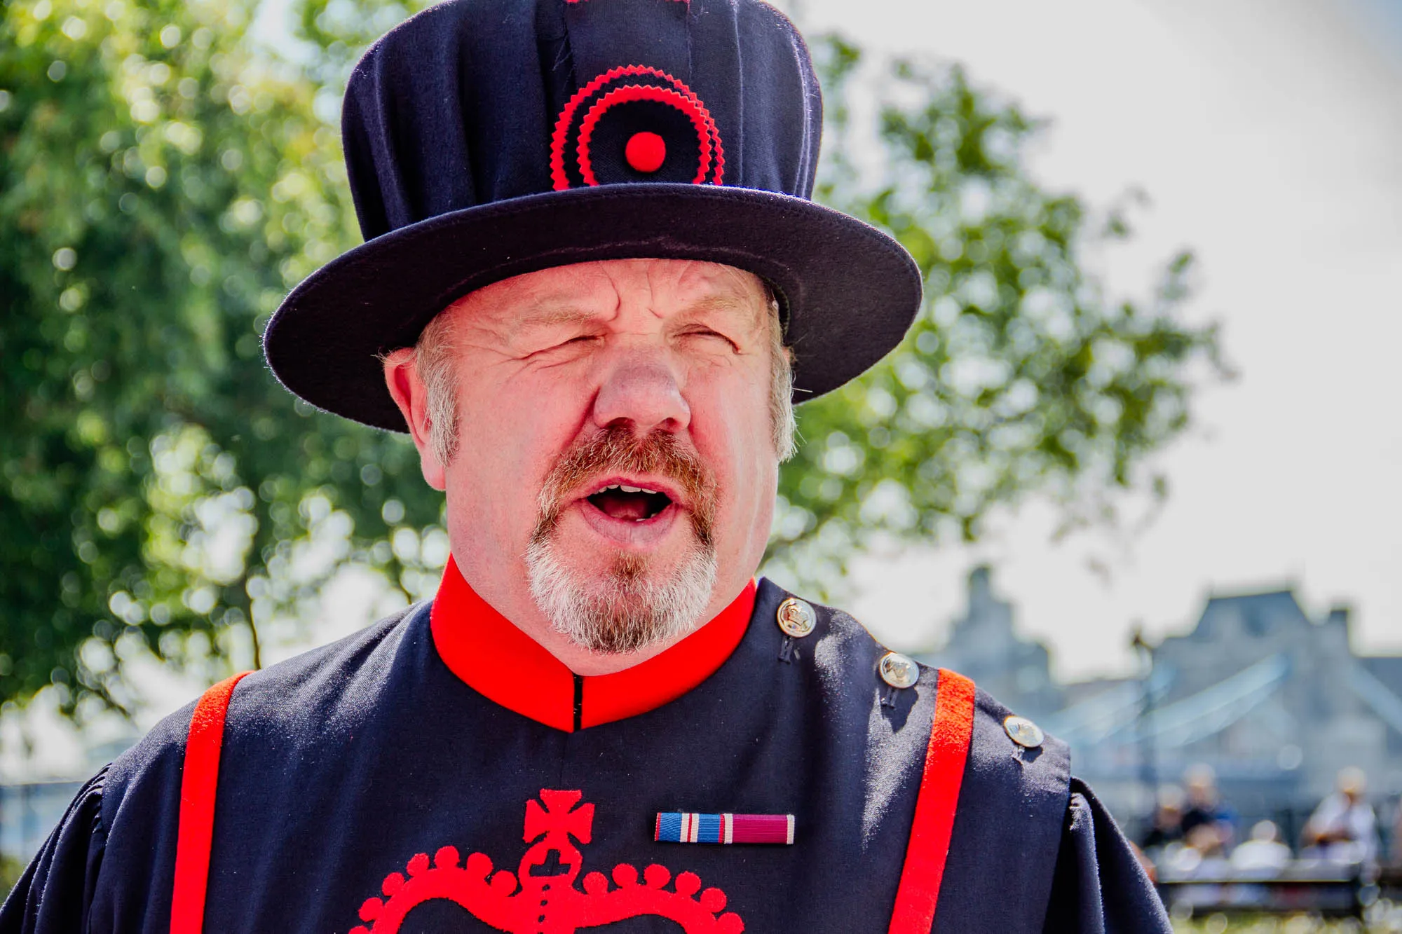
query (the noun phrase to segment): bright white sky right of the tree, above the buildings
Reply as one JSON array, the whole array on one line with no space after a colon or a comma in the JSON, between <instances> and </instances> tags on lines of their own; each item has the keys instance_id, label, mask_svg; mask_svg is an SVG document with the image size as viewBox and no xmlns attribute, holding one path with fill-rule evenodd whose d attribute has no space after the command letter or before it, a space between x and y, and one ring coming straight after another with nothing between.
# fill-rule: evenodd
<instances>
[{"instance_id":1,"label":"bright white sky right of the tree, above the buildings","mask_svg":"<svg viewBox=\"0 0 1402 934\"><path fill-rule=\"evenodd\" d=\"M789 4L792 10L792 4ZM1360 649L1402 651L1402 4L1395 0L802 0L806 34L963 62L1052 118L1039 178L1103 205L1152 199L1112 287L1145 293L1192 247L1189 314L1224 325L1241 372L1161 459L1147 532L1050 541L1030 506L980 546L858 568L862 620L939 638L980 560L1063 676L1123 672L1129 631L1180 631L1210 592L1294 586L1354 607ZM1088 560L1102 561L1096 574Z\"/></svg>"}]
</instances>

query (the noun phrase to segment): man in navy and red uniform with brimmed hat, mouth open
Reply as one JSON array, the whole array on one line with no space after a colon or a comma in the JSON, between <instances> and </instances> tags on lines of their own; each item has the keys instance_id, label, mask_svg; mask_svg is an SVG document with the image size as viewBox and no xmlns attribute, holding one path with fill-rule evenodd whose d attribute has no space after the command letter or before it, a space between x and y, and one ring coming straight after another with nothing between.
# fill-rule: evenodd
<instances>
[{"instance_id":1,"label":"man in navy and red uniform with brimmed hat, mouth open","mask_svg":"<svg viewBox=\"0 0 1402 934\"><path fill-rule=\"evenodd\" d=\"M367 243L265 342L411 433L442 588L157 726L0 930L1166 931L1061 743L753 581L791 397L920 304L808 201L820 123L756 0L453 0L381 39L343 114Z\"/></svg>"}]
</instances>

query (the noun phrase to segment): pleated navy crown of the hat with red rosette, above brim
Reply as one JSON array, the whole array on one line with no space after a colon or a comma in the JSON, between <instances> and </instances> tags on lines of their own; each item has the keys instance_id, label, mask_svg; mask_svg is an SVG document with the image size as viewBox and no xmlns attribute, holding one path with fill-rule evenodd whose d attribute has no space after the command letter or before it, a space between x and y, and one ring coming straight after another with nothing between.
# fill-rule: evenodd
<instances>
[{"instance_id":1,"label":"pleated navy crown of the hat with red rosette, above brim","mask_svg":"<svg viewBox=\"0 0 1402 934\"><path fill-rule=\"evenodd\" d=\"M342 129L370 240L585 185L809 198L822 97L803 39L756 0L451 0L365 55Z\"/></svg>"}]
</instances>

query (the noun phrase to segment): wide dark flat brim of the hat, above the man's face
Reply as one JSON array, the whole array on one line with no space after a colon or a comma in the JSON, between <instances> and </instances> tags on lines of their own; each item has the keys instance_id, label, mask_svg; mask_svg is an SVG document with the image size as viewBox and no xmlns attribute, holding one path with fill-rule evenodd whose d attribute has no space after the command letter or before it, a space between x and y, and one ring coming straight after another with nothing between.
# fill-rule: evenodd
<instances>
[{"instance_id":1,"label":"wide dark flat brim of the hat, above the man's face","mask_svg":"<svg viewBox=\"0 0 1402 934\"><path fill-rule=\"evenodd\" d=\"M780 293L802 402L861 374L900 342L921 276L887 234L801 198L686 184L600 185L430 217L307 276L264 332L283 386L336 415L405 431L379 355L411 346L474 289L596 259L707 259Z\"/></svg>"}]
</instances>

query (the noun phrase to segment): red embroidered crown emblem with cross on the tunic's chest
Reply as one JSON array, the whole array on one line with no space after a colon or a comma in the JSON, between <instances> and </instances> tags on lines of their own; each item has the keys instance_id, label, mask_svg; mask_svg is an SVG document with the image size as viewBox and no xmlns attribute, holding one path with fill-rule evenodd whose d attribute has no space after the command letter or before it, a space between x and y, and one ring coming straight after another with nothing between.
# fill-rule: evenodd
<instances>
[{"instance_id":1,"label":"red embroidered crown emblem with cross on the tunic's chest","mask_svg":"<svg viewBox=\"0 0 1402 934\"><path fill-rule=\"evenodd\" d=\"M492 860L484 853L472 853L464 864L457 848L443 847L432 865L429 855L419 853L408 862L408 878L391 872L380 885L384 898L366 899L360 920L369 927L350 934L395 934L411 910L432 899L454 902L510 934L573 934L646 914L676 921L687 934L744 930L739 914L725 912L725 892L701 889L695 872L679 872L673 879L670 869L653 864L639 879L637 868L620 862L613 882L603 872L590 872L583 889L575 888L583 867L575 841L587 844L594 823L594 806L579 804L582 797L579 791L543 788L538 804L526 802L524 840L531 847L515 874L492 872Z\"/></svg>"}]
</instances>

